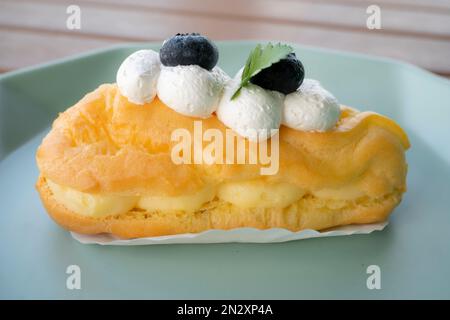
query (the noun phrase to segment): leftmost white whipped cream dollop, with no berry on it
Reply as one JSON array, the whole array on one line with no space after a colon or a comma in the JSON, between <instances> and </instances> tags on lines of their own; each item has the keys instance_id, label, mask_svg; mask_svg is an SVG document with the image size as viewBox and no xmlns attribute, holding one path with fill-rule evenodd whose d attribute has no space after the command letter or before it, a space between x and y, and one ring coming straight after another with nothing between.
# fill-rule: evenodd
<instances>
[{"instance_id":1,"label":"leftmost white whipped cream dollop, with no berry on it","mask_svg":"<svg viewBox=\"0 0 450 320\"><path fill-rule=\"evenodd\" d=\"M139 50L129 55L117 71L120 93L135 104L145 104L156 96L161 71L159 54L153 50Z\"/></svg>"}]
</instances>

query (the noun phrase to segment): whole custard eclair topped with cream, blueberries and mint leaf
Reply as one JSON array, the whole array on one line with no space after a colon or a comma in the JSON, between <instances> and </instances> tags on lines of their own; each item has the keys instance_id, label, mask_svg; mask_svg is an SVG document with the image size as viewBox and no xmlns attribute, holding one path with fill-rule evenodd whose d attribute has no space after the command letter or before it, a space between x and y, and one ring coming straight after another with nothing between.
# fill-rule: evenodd
<instances>
[{"instance_id":1,"label":"whole custard eclair topped with cream, blueberries and mint leaf","mask_svg":"<svg viewBox=\"0 0 450 320\"><path fill-rule=\"evenodd\" d=\"M36 154L50 216L120 238L388 218L406 191L399 125L339 104L288 45L256 46L234 77L218 57L177 34L61 113Z\"/></svg>"}]
</instances>

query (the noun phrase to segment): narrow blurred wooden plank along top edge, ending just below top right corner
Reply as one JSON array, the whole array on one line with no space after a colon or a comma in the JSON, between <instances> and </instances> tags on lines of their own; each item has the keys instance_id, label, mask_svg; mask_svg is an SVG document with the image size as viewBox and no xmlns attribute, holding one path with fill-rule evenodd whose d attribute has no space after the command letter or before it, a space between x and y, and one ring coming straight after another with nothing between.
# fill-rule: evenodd
<instances>
[{"instance_id":1,"label":"narrow blurred wooden plank along top edge, ending just below top right corner","mask_svg":"<svg viewBox=\"0 0 450 320\"><path fill-rule=\"evenodd\" d=\"M22 0L23 1L23 0ZM70 4L70 0L45 0ZM42 2L42 0L41 0ZM354 6L340 3L298 2L280 0L78 0L83 5L124 10L158 10L161 14L178 13L219 19L257 20L273 24L311 25L339 30L373 32L366 27L365 3ZM445 10L444 10L445 11ZM385 33L443 38L450 41L450 9L447 12L418 12L381 8ZM149 22L151 23L151 22Z\"/></svg>"}]
</instances>

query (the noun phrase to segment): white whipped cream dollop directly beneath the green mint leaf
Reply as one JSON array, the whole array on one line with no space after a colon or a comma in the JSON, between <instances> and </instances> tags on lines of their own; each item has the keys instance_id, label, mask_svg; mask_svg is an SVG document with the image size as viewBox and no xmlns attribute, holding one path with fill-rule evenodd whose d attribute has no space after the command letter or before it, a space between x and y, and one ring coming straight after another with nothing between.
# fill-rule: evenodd
<instances>
[{"instance_id":1,"label":"white whipped cream dollop directly beneath the green mint leaf","mask_svg":"<svg viewBox=\"0 0 450 320\"><path fill-rule=\"evenodd\" d=\"M239 72L225 87L216 114L220 121L250 141L262 141L280 128L282 93L248 84L231 100L239 87Z\"/></svg>"}]
</instances>

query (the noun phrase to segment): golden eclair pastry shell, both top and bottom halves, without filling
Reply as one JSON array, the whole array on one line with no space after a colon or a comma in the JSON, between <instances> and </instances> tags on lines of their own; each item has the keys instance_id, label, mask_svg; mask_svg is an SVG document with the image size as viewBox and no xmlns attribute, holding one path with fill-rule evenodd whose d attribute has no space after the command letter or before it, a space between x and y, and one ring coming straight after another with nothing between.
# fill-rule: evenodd
<instances>
[{"instance_id":1,"label":"golden eclair pastry shell, both top and bottom halves, without filling","mask_svg":"<svg viewBox=\"0 0 450 320\"><path fill-rule=\"evenodd\" d=\"M180 115L158 98L137 106L105 84L61 113L36 155L37 188L50 215L81 233L110 232L132 238L236 227L290 230L370 223L386 219L406 190L405 150L409 141L392 120L342 106L341 119L327 132L301 132L282 126L279 171L270 183L292 183L306 191L286 208L242 209L217 198L195 212L132 210L118 216L87 217L55 201L46 178L91 194L178 196L228 181L261 179L260 165L176 165L171 133L194 121L203 130L226 127L215 117ZM224 133L225 135L225 133ZM357 199L315 197L320 190L357 188ZM351 188L350 188L351 189ZM345 192L344 192L345 193Z\"/></svg>"}]
</instances>

